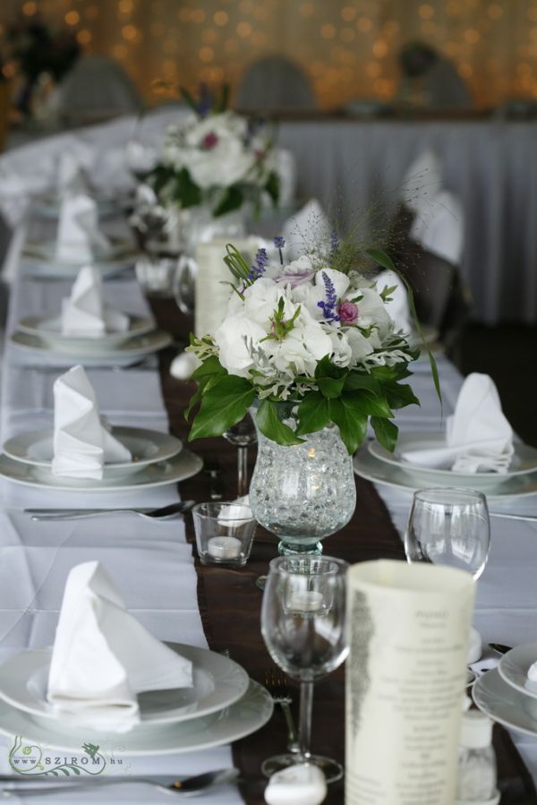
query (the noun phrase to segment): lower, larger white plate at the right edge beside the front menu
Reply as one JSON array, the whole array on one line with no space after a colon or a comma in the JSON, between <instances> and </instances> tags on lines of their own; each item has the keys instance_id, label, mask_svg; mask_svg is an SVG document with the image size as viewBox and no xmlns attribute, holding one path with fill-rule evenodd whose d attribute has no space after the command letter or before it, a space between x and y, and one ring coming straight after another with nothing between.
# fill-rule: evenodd
<instances>
[{"instance_id":1,"label":"lower, larger white plate at the right edge beside the front menu","mask_svg":"<svg viewBox=\"0 0 537 805\"><path fill-rule=\"evenodd\" d=\"M537 737L537 717L530 713L534 699L507 685L497 668L480 676L473 685L472 696L477 707L492 721Z\"/></svg>"}]
</instances>

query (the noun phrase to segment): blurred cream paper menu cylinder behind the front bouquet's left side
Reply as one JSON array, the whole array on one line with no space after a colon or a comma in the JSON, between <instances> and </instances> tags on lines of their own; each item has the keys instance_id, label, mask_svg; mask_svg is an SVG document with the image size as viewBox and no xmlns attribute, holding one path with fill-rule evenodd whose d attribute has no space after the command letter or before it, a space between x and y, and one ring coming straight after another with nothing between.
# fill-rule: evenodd
<instances>
[{"instance_id":1,"label":"blurred cream paper menu cylinder behind the front bouquet's left side","mask_svg":"<svg viewBox=\"0 0 537 805\"><path fill-rule=\"evenodd\" d=\"M226 244L230 243L242 252L246 260L257 248L257 241L244 237L217 237L206 244L196 246L196 312L194 331L198 338L214 335L227 313L227 302L233 293L229 283L234 277L227 269L224 258Z\"/></svg>"}]
</instances>

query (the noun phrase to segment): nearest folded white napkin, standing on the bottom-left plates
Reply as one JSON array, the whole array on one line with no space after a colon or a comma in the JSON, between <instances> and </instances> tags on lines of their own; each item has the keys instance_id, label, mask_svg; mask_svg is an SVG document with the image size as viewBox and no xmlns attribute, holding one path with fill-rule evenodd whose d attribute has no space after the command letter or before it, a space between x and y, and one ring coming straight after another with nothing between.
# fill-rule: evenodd
<instances>
[{"instance_id":1,"label":"nearest folded white napkin, standing on the bottom-left plates","mask_svg":"<svg viewBox=\"0 0 537 805\"><path fill-rule=\"evenodd\" d=\"M98 561L65 585L47 700L67 721L126 732L140 722L137 693L192 688L192 663L149 634Z\"/></svg>"}]
</instances>

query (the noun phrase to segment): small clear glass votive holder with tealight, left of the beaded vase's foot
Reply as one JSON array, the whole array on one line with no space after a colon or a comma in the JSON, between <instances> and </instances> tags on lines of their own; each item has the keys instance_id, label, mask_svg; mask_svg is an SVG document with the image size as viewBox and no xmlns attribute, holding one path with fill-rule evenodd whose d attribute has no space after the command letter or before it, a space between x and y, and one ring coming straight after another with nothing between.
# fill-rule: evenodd
<instances>
[{"instance_id":1,"label":"small clear glass votive holder with tealight, left of the beaded vase's foot","mask_svg":"<svg viewBox=\"0 0 537 805\"><path fill-rule=\"evenodd\" d=\"M233 501L198 503L192 518L201 564L234 568L246 564L257 527L250 506Z\"/></svg>"}]
</instances>

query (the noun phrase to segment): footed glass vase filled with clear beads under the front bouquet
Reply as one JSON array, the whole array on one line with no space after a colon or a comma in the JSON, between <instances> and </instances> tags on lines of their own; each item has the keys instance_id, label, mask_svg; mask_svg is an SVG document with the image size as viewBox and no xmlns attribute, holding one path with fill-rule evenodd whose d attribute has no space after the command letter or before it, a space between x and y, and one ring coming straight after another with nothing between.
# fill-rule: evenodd
<instances>
[{"instance_id":1,"label":"footed glass vase filled with clear beads under the front bouquet","mask_svg":"<svg viewBox=\"0 0 537 805\"><path fill-rule=\"evenodd\" d=\"M292 406L278 407L279 418L293 426L291 412ZM252 418L255 422L255 411ZM337 426L328 425L303 439L286 447L258 428L250 505L260 525L279 536L281 554L320 554L320 540L344 527L356 506L352 457Z\"/></svg>"}]
</instances>

